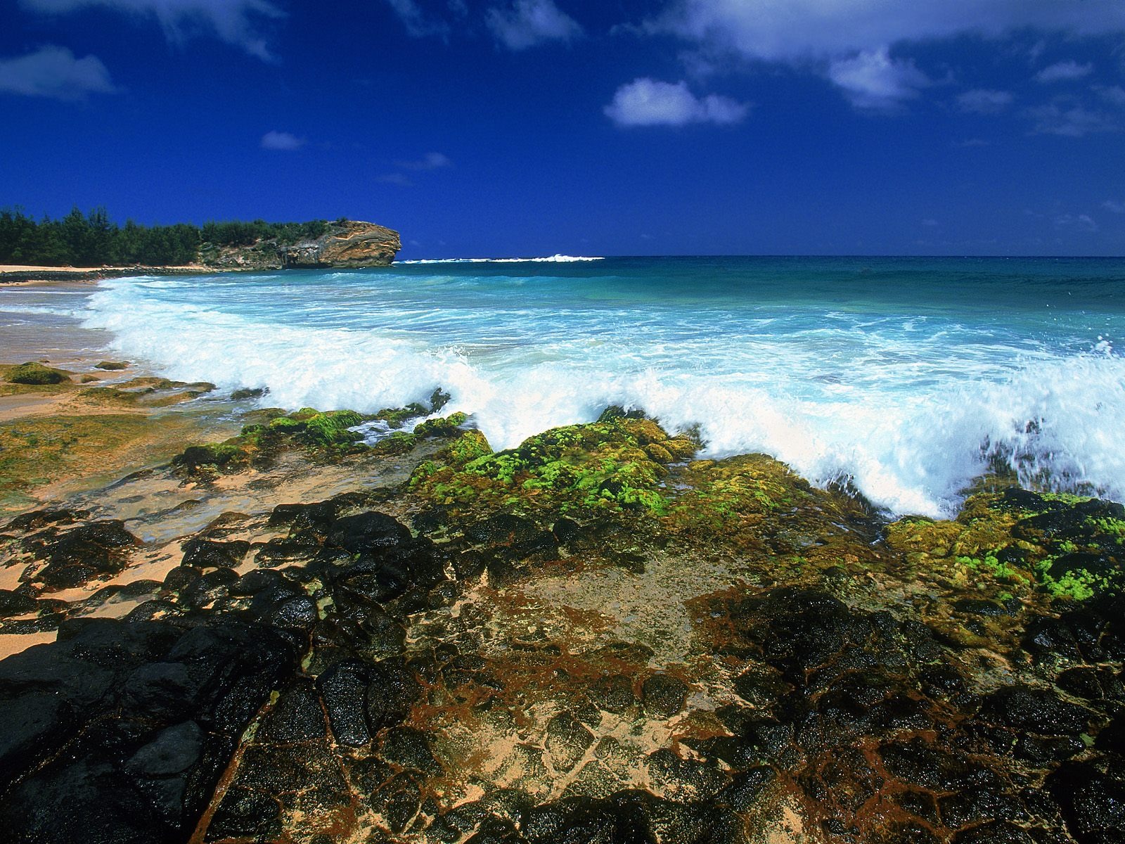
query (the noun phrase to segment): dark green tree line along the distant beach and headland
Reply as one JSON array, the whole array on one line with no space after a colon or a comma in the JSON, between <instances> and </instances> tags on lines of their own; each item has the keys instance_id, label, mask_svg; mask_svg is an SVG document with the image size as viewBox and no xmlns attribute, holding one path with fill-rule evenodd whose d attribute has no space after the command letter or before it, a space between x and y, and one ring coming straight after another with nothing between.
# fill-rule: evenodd
<instances>
[{"instance_id":1,"label":"dark green tree line along the distant beach and headland","mask_svg":"<svg viewBox=\"0 0 1125 844\"><path fill-rule=\"evenodd\" d=\"M336 221L343 223L343 219ZM260 240L279 244L320 237L331 223L267 223L254 219L143 226L126 222L119 226L105 208L83 214L74 207L62 219L44 216L36 221L20 208L0 209L0 264L43 267L102 267L144 264L150 267L192 263L204 244L249 246Z\"/></svg>"}]
</instances>

